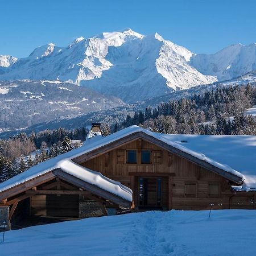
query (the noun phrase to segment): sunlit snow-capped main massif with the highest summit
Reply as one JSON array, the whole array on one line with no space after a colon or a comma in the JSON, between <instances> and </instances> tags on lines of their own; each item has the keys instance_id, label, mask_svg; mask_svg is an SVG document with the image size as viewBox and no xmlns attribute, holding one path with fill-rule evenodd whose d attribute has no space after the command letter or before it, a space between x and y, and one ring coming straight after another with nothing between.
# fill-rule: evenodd
<instances>
[{"instance_id":1,"label":"sunlit snow-capped main massif with the highest summit","mask_svg":"<svg viewBox=\"0 0 256 256\"><path fill-rule=\"evenodd\" d=\"M189 65L192 55L158 34L126 29L78 38L68 47L50 43L21 59L0 56L0 80L68 81L133 102L216 81Z\"/></svg>"}]
</instances>

